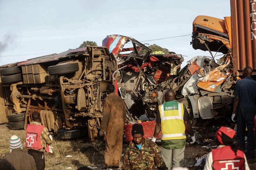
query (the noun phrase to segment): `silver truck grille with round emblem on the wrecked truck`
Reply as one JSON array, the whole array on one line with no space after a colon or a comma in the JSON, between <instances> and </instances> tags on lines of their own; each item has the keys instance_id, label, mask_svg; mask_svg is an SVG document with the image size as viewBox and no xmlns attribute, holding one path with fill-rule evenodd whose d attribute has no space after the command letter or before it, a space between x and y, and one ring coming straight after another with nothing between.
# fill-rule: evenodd
<instances>
[{"instance_id":1,"label":"silver truck grille with round emblem on the wrecked truck","mask_svg":"<svg viewBox=\"0 0 256 170\"><path fill-rule=\"evenodd\" d=\"M199 113L202 119L213 118L212 100L209 97L198 99Z\"/></svg>"}]
</instances>

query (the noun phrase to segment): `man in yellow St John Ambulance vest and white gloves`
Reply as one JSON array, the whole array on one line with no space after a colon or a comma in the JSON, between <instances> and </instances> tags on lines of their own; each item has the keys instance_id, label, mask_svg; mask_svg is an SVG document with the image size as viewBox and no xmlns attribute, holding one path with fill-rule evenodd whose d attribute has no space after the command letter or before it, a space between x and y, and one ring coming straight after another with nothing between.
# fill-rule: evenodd
<instances>
[{"instance_id":1,"label":"man in yellow St John Ambulance vest and white gloves","mask_svg":"<svg viewBox=\"0 0 256 170\"><path fill-rule=\"evenodd\" d=\"M156 115L156 127L152 142L161 131L162 138L162 158L166 167L170 170L172 167L183 166L184 151L186 145L185 130L192 136L192 143L196 138L192 130L191 118L187 109L182 103L175 100L173 90L166 90L164 93L164 104L159 105L159 112Z\"/></svg>"}]
</instances>

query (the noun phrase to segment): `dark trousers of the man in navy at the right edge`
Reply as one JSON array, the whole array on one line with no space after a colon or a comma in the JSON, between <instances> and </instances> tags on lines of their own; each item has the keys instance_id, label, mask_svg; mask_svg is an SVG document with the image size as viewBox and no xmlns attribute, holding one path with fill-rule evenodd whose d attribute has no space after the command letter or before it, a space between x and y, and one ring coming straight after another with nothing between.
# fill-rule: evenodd
<instances>
[{"instance_id":1,"label":"dark trousers of the man in navy at the right edge","mask_svg":"<svg viewBox=\"0 0 256 170\"><path fill-rule=\"evenodd\" d=\"M255 106L244 106L237 108L237 142L241 149L245 149L245 130L247 127L247 159L254 158L254 116L256 113Z\"/></svg>"}]
</instances>

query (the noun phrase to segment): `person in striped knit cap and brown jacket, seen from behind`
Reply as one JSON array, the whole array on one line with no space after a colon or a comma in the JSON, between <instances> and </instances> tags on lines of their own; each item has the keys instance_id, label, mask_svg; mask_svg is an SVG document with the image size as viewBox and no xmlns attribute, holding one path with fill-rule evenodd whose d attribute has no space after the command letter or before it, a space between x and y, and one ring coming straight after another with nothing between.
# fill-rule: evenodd
<instances>
[{"instance_id":1,"label":"person in striped knit cap and brown jacket, seen from behind","mask_svg":"<svg viewBox=\"0 0 256 170\"><path fill-rule=\"evenodd\" d=\"M10 153L6 154L4 158L12 163L16 170L36 170L34 158L22 151L22 144L18 136L12 135L9 144Z\"/></svg>"}]
</instances>

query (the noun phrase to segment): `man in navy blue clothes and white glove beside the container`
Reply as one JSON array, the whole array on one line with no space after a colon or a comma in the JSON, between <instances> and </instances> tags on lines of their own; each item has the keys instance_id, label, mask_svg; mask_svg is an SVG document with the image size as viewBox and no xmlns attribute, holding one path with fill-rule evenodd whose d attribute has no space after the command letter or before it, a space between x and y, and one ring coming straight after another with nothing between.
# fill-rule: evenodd
<instances>
[{"instance_id":1,"label":"man in navy blue clothes and white glove beside the container","mask_svg":"<svg viewBox=\"0 0 256 170\"><path fill-rule=\"evenodd\" d=\"M247 158L254 158L254 116L256 113L256 81L252 76L252 68L245 67L244 79L237 81L233 95L235 95L232 120L237 117L237 141L244 150L245 129L247 127Z\"/></svg>"}]
</instances>

